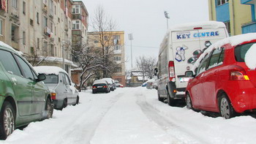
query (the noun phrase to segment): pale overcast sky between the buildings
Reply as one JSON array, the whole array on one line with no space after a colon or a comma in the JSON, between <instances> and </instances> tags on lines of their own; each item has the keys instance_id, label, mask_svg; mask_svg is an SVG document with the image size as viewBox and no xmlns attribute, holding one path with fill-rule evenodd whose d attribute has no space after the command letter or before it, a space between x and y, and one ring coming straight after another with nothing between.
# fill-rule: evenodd
<instances>
[{"instance_id":1,"label":"pale overcast sky between the buildings","mask_svg":"<svg viewBox=\"0 0 256 144\"><path fill-rule=\"evenodd\" d=\"M131 68L131 46L128 34L132 34L132 64L136 58L152 56L157 59L159 45L169 27L178 23L208 20L207 0L83 0L89 12L89 20L100 4L105 12L116 20L117 30L125 32L126 69ZM89 31L91 29L89 28Z\"/></svg>"}]
</instances>

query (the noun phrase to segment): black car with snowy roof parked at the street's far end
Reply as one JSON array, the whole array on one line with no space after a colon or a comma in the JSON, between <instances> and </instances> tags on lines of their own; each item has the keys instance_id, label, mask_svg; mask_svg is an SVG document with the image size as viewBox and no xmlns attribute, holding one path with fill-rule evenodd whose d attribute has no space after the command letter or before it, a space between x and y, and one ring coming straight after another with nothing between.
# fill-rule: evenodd
<instances>
[{"instance_id":1,"label":"black car with snowy roof parked at the street's far end","mask_svg":"<svg viewBox=\"0 0 256 144\"><path fill-rule=\"evenodd\" d=\"M107 80L94 80L94 84L92 85L92 94L96 94L98 92L110 92L110 84Z\"/></svg>"}]
</instances>

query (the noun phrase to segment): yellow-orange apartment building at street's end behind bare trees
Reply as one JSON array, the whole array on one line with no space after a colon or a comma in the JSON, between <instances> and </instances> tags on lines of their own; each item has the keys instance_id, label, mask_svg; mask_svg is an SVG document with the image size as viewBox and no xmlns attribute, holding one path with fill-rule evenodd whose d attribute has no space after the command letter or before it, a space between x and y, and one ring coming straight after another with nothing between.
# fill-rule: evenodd
<instances>
[{"instance_id":1,"label":"yellow-orange apartment building at street's end behind bare trees","mask_svg":"<svg viewBox=\"0 0 256 144\"><path fill-rule=\"evenodd\" d=\"M116 61L116 67L114 73L111 75L113 80L118 80L119 83L126 86L125 80L125 53L124 53L124 31L104 31L104 39L108 41L108 45L105 45L105 49L109 49L112 53L111 58ZM99 32L88 32L89 45L101 48L99 42Z\"/></svg>"}]
</instances>

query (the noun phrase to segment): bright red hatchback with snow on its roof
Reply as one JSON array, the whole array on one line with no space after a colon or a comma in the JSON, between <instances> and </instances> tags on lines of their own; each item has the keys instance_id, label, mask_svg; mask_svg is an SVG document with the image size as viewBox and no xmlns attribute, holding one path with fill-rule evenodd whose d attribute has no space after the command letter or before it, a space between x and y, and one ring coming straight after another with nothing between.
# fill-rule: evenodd
<instances>
[{"instance_id":1,"label":"bright red hatchback with snow on its roof","mask_svg":"<svg viewBox=\"0 0 256 144\"><path fill-rule=\"evenodd\" d=\"M197 60L186 89L187 108L224 118L256 110L256 33L228 37Z\"/></svg>"}]
</instances>

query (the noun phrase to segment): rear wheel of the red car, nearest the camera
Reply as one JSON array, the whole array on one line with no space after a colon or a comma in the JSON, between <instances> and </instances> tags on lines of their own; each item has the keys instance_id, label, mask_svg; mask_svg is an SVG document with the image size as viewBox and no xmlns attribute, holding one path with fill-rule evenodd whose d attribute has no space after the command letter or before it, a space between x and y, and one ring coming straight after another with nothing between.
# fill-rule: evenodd
<instances>
[{"instance_id":1,"label":"rear wheel of the red car, nearest the camera","mask_svg":"<svg viewBox=\"0 0 256 144\"><path fill-rule=\"evenodd\" d=\"M230 103L230 99L228 99L225 93L219 98L219 113L226 119L233 118L236 115L236 112Z\"/></svg>"}]
</instances>

